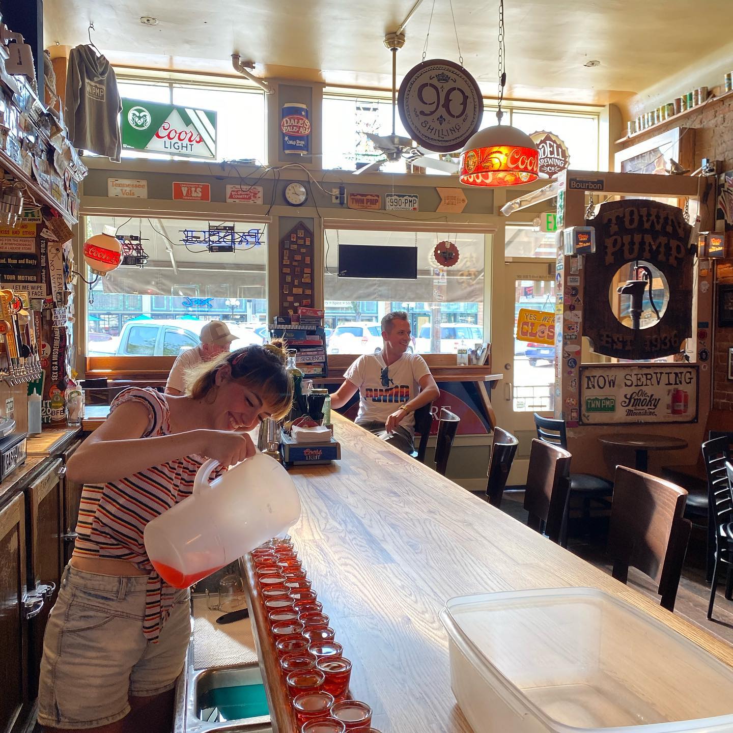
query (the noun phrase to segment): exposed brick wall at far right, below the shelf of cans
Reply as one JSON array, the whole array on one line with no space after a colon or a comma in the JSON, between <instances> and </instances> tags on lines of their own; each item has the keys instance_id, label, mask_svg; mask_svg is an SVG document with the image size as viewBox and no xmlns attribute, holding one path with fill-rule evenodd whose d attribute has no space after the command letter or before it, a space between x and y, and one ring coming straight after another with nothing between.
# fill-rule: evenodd
<instances>
[{"instance_id":1,"label":"exposed brick wall at far right, below the shelf of cans","mask_svg":"<svg viewBox=\"0 0 733 733\"><path fill-rule=\"evenodd\" d=\"M712 102L701 107L699 111L683 117L679 122L671 121L649 132L653 137L675 127L696 128L695 131L695 165L700 165L702 158L723 161L723 170L733 170L733 97L726 97L720 102ZM630 147L644 136L634 137L624 147ZM733 263L729 263L731 265ZM718 267L718 281L733 282L733 267ZM715 301L717 303L717 301ZM715 350L712 355L712 407L733 410L733 381L728 380L728 349L733 347L733 327L718 328L713 316L711 324L715 334ZM704 397L701 396L702 399Z\"/></svg>"}]
</instances>

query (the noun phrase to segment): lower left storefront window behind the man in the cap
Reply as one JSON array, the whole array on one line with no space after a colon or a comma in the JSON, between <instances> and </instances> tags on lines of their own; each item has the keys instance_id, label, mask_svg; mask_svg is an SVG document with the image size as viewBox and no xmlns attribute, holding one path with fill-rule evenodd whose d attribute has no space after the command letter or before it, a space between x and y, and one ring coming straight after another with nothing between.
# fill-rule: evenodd
<instances>
[{"instance_id":1,"label":"lower left storefront window behind the man in the cap","mask_svg":"<svg viewBox=\"0 0 733 733\"><path fill-rule=\"evenodd\" d=\"M122 265L94 282L87 356L178 356L198 344L202 325L213 319L225 321L238 336L234 348L265 341L266 231L261 244L212 253L182 241L186 230L208 229L206 221L93 216L86 218L86 235L100 234L105 226L118 236L141 237L148 261L143 268ZM248 232L263 225L234 226Z\"/></svg>"}]
</instances>

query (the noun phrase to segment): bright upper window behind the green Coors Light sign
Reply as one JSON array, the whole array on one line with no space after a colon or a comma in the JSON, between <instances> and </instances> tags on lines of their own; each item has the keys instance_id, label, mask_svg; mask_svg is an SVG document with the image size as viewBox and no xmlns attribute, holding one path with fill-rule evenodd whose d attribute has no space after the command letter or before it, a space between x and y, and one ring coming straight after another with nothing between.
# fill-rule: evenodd
<instances>
[{"instance_id":1,"label":"bright upper window behind the green Coors Light sign","mask_svg":"<svg viewBox=\"0 0 733 733\"><path fill-rule=\"evenodd\" d=\"M216 111L216 158L219 161L265 160L265 94L242 86L203 86L179 81L150 82L121 80L119 95L128 99L194 106ZM176 156L163 153L122 150L122 158ZM186 158L196 160L196 158Z\"/></svg>"}]
</instances>

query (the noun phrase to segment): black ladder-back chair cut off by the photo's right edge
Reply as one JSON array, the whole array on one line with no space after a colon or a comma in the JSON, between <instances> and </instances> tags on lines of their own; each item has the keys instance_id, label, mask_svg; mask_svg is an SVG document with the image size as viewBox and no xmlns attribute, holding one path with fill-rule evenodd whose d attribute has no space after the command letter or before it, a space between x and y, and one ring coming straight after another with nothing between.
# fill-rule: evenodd
<instances>
[{"instance_id":1,"label":"black ladder-back chair cut off by the photo's right edge","mask_svg":"<svg viewBox=\"0 0 733 733\"><path fill-rule=\"evenodd\" d=\"M707 617L712 619L715 591L718 589L718 573L726 568L726 598L730 600L733 590L733 499L731 497L729 470L729 441L726 435L712 438L702 444L702 456L707 475L708 524L713 528L714 557L710 585L710 603Z\"/></svg>"}]
</instances>

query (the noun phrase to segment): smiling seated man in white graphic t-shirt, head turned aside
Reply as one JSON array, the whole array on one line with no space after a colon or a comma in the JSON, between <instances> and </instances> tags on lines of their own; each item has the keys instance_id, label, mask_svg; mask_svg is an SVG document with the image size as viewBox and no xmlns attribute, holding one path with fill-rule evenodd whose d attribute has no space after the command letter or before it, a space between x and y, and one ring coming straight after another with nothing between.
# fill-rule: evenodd
<instances>
[{"instance_id":1,"label":"smiling seated man in white graphic t-shirt, head turned aside","mask_svg":"<svg viewBox=\"0 0 733 733\"><path fill-rule=\"evenodd\" d=\"M331 407L343 407L359 391L356 424L405 453L413 452L417 408L441 394L424 358L407 353L410 323L404 311L382 319L384 347L360 356L331 395Z\"/></svg>"}]
</instances>

